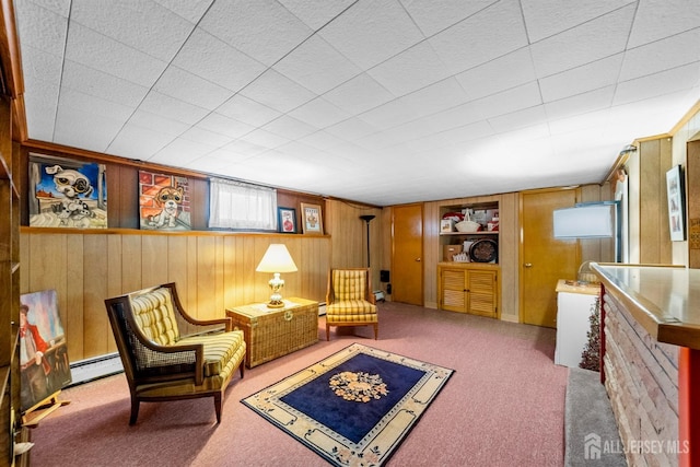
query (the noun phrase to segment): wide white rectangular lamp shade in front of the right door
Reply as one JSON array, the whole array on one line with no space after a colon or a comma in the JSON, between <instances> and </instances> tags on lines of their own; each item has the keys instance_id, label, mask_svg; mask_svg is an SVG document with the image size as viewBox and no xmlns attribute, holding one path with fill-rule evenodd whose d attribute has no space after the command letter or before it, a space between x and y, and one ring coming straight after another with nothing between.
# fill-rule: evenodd
<instances>
[{"instance_id":1,"label":"wide white rectangular lamp shade in front of the right door","mask_svg":"<svg viewBox=\"0 0 700 467\"><path fill-rule=\"evenodd\" d=\"M612 205L555 210L555 238L604 238L615 235Z\"/></svg>"}]
</instances>

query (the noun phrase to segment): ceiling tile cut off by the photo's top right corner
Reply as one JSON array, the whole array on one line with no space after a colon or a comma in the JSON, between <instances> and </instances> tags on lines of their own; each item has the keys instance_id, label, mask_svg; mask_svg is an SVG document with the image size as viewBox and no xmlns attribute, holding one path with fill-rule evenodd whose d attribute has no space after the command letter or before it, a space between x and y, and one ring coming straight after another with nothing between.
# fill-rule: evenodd
<instances>
[{"instance_id":1,"label":"ceiling tile cut off by the photo's top right corner","mask_svg":"<svg viewBox=\"0 0 700 467\"><path fill-rule=\"evenodd\" d=\"M700 24L700 2L695 0L643 1L637 9L628 47L634 48L673 36L696 28L698 24Z\"/></svg>"}]
</instances>

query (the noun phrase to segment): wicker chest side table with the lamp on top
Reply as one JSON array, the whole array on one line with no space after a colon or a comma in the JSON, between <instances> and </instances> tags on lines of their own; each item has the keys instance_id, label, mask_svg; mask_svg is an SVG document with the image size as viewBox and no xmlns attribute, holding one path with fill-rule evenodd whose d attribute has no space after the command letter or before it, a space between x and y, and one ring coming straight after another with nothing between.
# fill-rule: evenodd
<instances>
[{"instance_id":1,"label":"wicker chest side table with the lamp on top","mask_svg":"<svg viewBox=\"0 0 700 467\"><path fill-rule=\"evenodd\" d=\"M254 303L226 308L233 326L243 330L245 364L257 366L318 341L318 302L285 299L284 307Z\"/></svg>"}]
</instances>

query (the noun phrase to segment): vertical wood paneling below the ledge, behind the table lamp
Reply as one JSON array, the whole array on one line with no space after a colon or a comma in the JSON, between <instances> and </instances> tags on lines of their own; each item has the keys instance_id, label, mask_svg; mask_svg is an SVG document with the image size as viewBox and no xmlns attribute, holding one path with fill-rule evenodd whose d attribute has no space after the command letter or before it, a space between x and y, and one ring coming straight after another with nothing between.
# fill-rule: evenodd
<instances>
[{"instance_id":1,"label":"vertical wood paneling below the ledge, behind the table lamp","mask_svg":"<svg viewBox=\"0 0 700 467\"><path fill-rule=\"evenodd\" d=\"M299 272L283 296L325 301L330 237L282 234L70 232L23 227L21 292L55 289L71 362L116 351L104 300L176 282L185 310L207 319L228 306L269 299L256 272L271 243L284 243Z\"/></svg>"}]
</instances>

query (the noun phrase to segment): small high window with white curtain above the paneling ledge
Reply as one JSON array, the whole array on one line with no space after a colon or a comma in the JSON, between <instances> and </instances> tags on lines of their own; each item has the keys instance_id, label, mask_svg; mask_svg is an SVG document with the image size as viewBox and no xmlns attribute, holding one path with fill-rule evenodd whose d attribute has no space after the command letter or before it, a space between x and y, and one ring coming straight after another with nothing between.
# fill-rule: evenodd
<instances>
[{"instance_id":1,"label":"small high window with white curtain above the paneling ledge","mask_svg":"<svg viewBox=\"0 0 700 467\"><path fill-rule=\"evenodd\" d=\"M209 226L277 231L277 191L223 178L210 178Z\"/></svg>"}]
</instances>

